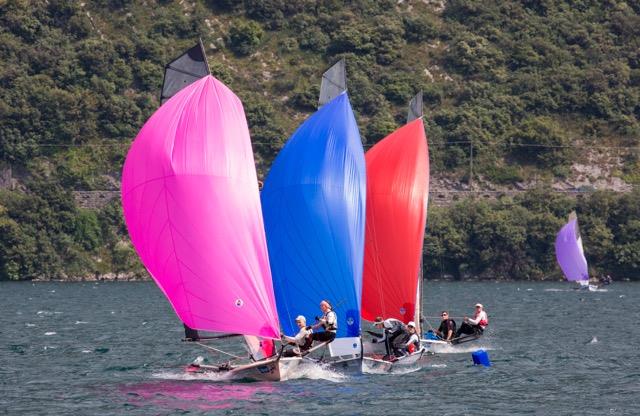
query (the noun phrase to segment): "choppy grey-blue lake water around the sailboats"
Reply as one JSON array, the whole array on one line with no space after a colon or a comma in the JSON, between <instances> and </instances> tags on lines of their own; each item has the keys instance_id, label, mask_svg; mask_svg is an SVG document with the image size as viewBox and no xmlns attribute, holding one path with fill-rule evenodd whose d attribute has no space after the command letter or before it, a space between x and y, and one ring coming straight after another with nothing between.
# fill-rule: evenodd
<instances>
[{"instance_id":1,"label":"choppy grey-blue lake water around the sailboats","mask_svg":"<svg viewBox=\"0 0 640 416\"><path fill-rule=\"evenodd\" d=\"M467 352L407 374L309 365L294 380L238 383L185 374L203 351L180 342L153 283L0 282L0 414L635 415L639 298L640 285L618 282L595 293L428 283L428 316L485 304L492 367Z\"/></svg>"}]
</instances>

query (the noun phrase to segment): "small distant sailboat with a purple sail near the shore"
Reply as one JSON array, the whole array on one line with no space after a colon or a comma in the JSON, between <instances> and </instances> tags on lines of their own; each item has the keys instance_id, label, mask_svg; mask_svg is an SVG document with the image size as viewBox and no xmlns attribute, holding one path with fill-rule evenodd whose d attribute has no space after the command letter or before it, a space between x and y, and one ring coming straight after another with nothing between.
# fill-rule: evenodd
<instances>
[{"instance_id":1,"label":"small distant sailboat with a purple sail near the shore","mask_svg":"<svg viewBox=\"0 0 640 416\"><path fill-rule=\"evenodd\" d=\"M569 214L569 221L560 229L556 237L556 259L567 280L577 282L579 289L595 291L596 285L589 284L589 267L584 256L582 237L578 229L578 216Z\"/></svg>"}]
</instances>

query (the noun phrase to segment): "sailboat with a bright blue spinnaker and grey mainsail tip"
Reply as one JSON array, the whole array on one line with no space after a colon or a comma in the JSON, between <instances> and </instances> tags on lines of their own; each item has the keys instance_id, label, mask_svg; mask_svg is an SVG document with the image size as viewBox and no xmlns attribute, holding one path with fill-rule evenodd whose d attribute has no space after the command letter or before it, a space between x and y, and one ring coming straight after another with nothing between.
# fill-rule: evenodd
<instances>
[{"instance_id":1,"label":"sailboat with a bright blue spinnaker and grey mainsail tip","mask_svg":"<svg viewBox=\"0 0 640 416\"><path fill-rule=\"evenodd\" d=\"M298 315L313 322L327 300L338 329L321 361L359 373L366 173L344 60L324 73L319 107L293 133L265 179L267 245L283 332L298 331Z\"/></svg>"}]
</instances>

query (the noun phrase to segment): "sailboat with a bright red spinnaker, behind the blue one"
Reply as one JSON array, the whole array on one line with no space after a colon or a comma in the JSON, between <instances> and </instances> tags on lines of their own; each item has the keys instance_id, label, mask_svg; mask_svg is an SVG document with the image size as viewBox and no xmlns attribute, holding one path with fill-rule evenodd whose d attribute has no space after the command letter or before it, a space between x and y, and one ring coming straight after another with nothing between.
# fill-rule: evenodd
<instances>
[{"instance_id":1,"label":"sailboat with a bright red spinnaker, behind the blue one","mask_svg":"<svg viewBox=\"0 0 640 416\"><path fill-rule=\"evenodd\" d=\"M380 316L420 332L422 249L429 197L429 153L422 120L422 93L409 106L407 124L366 154L367 219L362 317ZM366 370L419 366L425 348L393 362L382 343L363 342Z\"/></svg>"}]
</instances>

